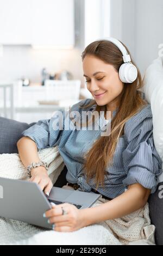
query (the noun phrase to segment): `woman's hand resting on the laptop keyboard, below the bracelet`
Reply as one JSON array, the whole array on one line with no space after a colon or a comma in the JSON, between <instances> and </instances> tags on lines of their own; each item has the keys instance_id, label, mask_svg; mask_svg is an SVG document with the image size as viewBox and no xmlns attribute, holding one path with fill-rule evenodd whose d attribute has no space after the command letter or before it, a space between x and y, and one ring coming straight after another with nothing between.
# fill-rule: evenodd
<instances>
[{"instance_id":1,"label":"woman's hand resting on the laptop keyboard, below the bracelet","mask_svg":"<svg viewBox=\"0 0 163 256\"><path fill-rule=\"evenodd\" d=\"M31 178L29 181L39 184L41 190L44 191L47 196L53 187L52 181L47 174L47 170L44 167L33 168L31 171Z\"/></svg>"}]
</instances>

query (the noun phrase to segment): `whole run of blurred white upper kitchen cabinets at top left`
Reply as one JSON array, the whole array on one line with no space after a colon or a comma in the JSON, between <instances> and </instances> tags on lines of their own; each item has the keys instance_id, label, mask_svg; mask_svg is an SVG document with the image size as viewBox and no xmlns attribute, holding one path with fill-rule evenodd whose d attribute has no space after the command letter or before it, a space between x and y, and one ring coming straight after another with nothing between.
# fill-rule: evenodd
<instances>
[{"instance_id":1,"label":"whole run of blurred white upper kitchen cabinets at top left","mask_svg":"<svg viewBox=\"0 0 163 256\"><path fill-rule=\"evenodd\" d=\"M0 44L74 45L74 0L0 0L0 7Z\"/></svg>"}]
</instances>

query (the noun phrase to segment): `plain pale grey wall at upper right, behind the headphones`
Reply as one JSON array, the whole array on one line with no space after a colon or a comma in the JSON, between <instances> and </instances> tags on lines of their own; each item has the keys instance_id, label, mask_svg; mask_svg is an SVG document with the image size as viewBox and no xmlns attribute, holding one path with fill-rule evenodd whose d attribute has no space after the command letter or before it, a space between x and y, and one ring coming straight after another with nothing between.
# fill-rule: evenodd
<instances>
[{"instance_id":1,"label":"plain pale grey wall at upper right, behind the headphones","mask_svg":"<svg viewBox=\"0 0 163 256\"><path fill-rule=\"evenodd\" d=\"M163 43L162 0L110 0L111 36L129 48L143 75Z\"/></svg>"}]
</instances>

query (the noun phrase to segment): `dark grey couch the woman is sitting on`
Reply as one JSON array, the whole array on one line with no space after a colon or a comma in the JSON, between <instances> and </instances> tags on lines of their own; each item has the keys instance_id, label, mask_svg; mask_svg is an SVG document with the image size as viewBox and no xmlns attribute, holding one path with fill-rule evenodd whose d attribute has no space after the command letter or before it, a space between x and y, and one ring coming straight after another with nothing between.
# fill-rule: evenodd
<instances>
[{"instance_id":1,"label":"dark grey couch the woman is sitting on","mask_svg":"<svg viewBox=\"0 0 163 256\"><path fill-rule=\"evenodd\" d=\"M16 143L21 138L22 131L28 129L32 124L21 123L15 120L0 117L0 154L17 153ZM55 186L61 187L65 185L66 169L62 170ZM163 182L158 185L162 185ZM154 194L149 196L149 210L152 223L156 227L155 241L157 245L163 245L163 199L159 198L158 189ZM163 191L162 191L163 194Z\"/></svg>"}]
</instances>

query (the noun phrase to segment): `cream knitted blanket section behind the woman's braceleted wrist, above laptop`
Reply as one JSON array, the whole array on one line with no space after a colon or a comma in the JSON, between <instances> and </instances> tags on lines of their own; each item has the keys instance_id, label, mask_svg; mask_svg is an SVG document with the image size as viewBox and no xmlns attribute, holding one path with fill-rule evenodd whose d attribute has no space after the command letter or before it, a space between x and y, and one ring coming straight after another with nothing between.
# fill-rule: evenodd
<instances>
[{"instance_id":1,"label":"cream knitted blanket section behind the woman's braceleted wrist, above laptop","mask_svg":"<svg viewBox=\"0 0 163 256\"><path fill-rule=\"evenodd\" d=\"M65 165L59 154L58 147L42 149L38 153L41 161L48 163L48 175L54 184ZM0 163L0 177L29 179L26 168L24 168L18 154L0 154Z\"/></svg>"}]
</instances>

